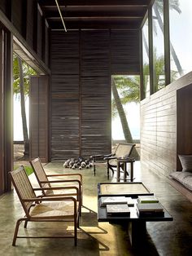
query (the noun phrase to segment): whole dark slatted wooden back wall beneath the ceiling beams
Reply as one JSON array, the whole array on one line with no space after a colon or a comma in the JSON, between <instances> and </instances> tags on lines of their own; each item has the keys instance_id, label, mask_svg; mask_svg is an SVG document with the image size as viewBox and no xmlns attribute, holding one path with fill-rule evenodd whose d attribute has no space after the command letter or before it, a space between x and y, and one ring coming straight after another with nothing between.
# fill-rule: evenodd
<instances>
[{"instance_id":1,"label":"whole dark slatted wooden back wall beneath the ceiling beams","mask_svg":"<svg viewBox=\"0 0 192 256\"><path fill-rule=\"evenodd\" d=\"M137 73L138 42L134 59L129 41L113 43L109 30L51 34L51 160L111 152L111 66L113 73Z\"/></svg>"}]
</instances>

